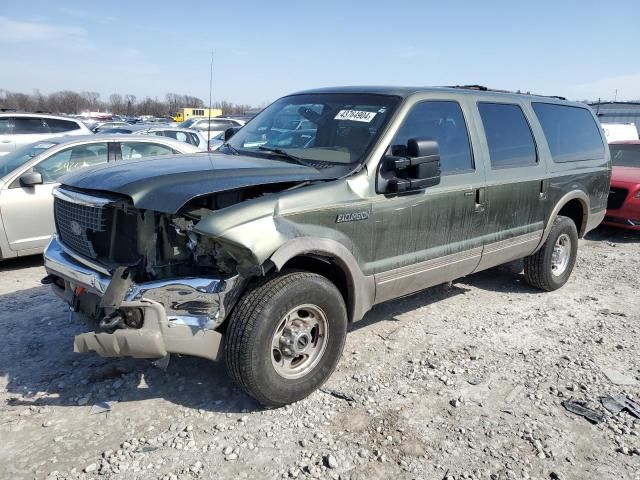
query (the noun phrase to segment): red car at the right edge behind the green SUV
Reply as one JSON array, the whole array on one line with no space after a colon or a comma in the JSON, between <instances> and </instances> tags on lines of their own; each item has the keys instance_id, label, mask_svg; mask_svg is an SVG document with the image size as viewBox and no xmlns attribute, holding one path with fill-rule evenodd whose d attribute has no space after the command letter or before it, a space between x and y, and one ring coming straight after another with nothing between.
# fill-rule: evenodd
<instances>
[{"instance_id":1,"label":"red car at the right edge behind the green SUV","mask_svg":"<svg viewBox=\"0 0 640 480\"><path fill-rule=\"evenodd\" d=\"M640 140L609 144L613 170L604 225L640 230Z\"/></svg>"}]
</instances>

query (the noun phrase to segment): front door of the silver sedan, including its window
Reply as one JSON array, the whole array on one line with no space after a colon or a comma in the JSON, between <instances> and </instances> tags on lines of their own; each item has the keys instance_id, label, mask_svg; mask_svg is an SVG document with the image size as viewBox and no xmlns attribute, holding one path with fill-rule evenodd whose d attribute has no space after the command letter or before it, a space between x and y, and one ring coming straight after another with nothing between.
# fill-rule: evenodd
<instances>
[{"instance_id":1,"label":"front door of the silver sedan, including its window","mask_svg":"<svg viewBox=\"0 0 640 480\"><path fill-rule=\"evenodd\" d=\"M20 172L40 173L42 185L22 186L20 175L9 181L0 192L0 213L9 248L23 254L42 250L55 232L52 191L58 179L80 168L106 163L108 151L107 142L69 147Z\"/></svg>"}]
</instances>

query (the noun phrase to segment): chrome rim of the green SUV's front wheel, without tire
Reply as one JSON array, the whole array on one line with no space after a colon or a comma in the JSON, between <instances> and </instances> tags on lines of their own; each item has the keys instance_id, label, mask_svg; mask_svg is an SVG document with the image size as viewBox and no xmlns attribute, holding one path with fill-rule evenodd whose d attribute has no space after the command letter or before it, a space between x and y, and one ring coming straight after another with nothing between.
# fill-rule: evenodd
<instances>
[{"instance_id":1,"label":"chrome rim of the green SUV's front wheel, without tire","mask_svg":"<svg viewBox=\"0 0 640 480\"><path fill-rule=\"evenodd\" d=\"M320 361L327 348L329 322L316 305L299 305L287 313L271 340L271 363L284 378L300 378Z\"/></svg>"}]
</instances>

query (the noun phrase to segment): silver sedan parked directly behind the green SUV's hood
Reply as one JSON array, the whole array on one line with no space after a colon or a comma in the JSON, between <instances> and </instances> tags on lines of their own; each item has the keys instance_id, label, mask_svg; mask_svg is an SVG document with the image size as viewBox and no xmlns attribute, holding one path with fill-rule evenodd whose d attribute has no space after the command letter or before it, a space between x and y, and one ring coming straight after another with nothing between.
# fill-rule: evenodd
<instances>
[{"instance_id":1,"label":"silver sedan parked directly behind the green SUV's hood","mask_svg":"<svg viewBox=\"0 0 640 480\"><path fill-rule=\"evenodd\" d=\"M165 137L90 135L51 138L0 157L0 259L44 250L55 231L51 191L64 174L109 161L198 151Z\"/></svg>"}]
</instances>

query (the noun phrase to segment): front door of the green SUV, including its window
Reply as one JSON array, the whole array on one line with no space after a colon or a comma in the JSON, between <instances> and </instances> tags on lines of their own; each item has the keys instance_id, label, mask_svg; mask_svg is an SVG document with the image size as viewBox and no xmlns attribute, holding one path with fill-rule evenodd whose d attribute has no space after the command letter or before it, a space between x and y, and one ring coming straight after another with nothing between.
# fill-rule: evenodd
<instances>
[{"instance_id":1,"label":"front door of the green SUV, including its window","mask_svg":"<svg viewBox=\"0 0 640 480\"><path fill-rule=\"evenodd\" d=\"M480 261L484 214L476 192L484 187L484 169L474 161L466 110L445 98L419 101L392 141L436 140L442 178L422 191L374 197L376 302L464 276Z\"/></svg>"}]
</instances>

